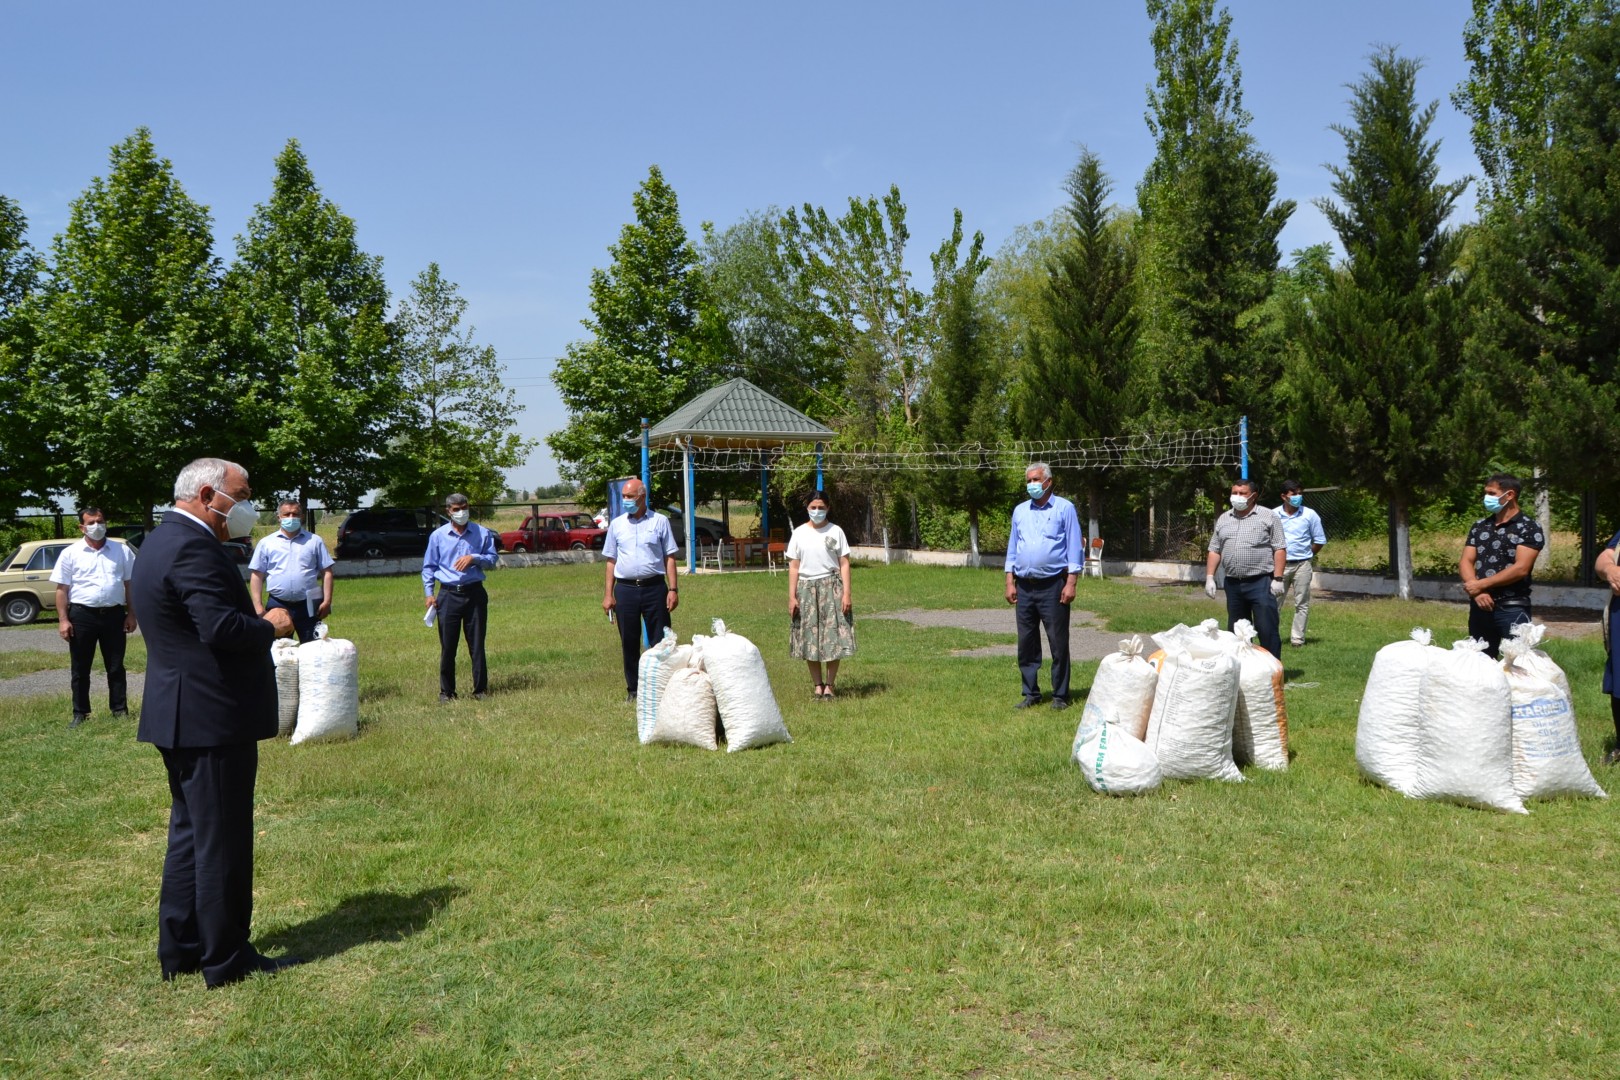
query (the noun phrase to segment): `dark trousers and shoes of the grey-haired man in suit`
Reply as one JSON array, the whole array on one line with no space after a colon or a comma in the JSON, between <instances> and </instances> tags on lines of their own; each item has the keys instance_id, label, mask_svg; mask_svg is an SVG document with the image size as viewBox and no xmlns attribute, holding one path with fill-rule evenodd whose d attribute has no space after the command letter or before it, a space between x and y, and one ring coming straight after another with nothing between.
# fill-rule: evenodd
<instances>
[{"instance_id":1,"label":"dark trousers and shoes of the grey-haired man in suit","mask_svg":"<svg viewBox=\"0 0 1620 1080\"><path fill-rule=\"evenodd\" d=\"M228 983L261 960L253 926L253 787L259 745L159 748L168 769L168 853L157 899L165 975ZM209 942L215 952L202 952Z\"/></svg>"}]
</instances>

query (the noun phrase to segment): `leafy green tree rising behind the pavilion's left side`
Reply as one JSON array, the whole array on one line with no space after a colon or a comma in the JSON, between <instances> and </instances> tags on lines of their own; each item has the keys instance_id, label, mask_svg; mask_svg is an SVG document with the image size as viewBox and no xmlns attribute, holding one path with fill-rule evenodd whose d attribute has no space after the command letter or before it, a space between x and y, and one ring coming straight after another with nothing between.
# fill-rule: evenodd
<instances>
[{"instance_id":1,"label":"leafy green tree rising behind the pavilion's left side","mask_svg":"<svg viewBox=\"0 0 1620 1080\"><path fill-rule=\"evenodd\" d=\"M680 223L676 189L653 165L632 198L635 220L591 270L591 337L573 342L551 374L569 426L546 437L565 479L585 497L606 497L608 481L640 473L640 421L658 423L706 390L726 353L726 329L708 303L703 269ZM653 478L654 497L676 484Z\"/></svg>"}]
</instances>

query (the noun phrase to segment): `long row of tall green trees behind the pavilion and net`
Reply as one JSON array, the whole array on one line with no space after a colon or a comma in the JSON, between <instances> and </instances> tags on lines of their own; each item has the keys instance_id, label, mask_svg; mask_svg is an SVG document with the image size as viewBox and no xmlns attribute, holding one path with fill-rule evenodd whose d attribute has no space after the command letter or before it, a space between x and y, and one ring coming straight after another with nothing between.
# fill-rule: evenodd
<instances>
[{"instance_id":1,"label":"long row of tall green trees behind the pavilion and net","mask_svg":"<svg viewBox=\"0 0 1620 1080\"><path fill-rule=\"evenodd\" d=\"M1134 204L1082 151L1068 204L995 257L957 210L907 267L897 188L839 214L804 204L705 223L693 240L654 167L635 220L591 279L590 337L554 382L569 426L548 444L593 495L637 470L629 437L744 376L829 423L841 442L1079 440L1249 416L1262 478L1371 491L1390 507L1409 593L1408 528L1427 502L1500 468L1599 500L1620 450L1620 19L1617 0L1473 0L1469 76L1479 219L1453 225L1469 180L1440 181L1439 102L1418 60L1375 49L1335 126L1343 159L1317 202L1341 256L1281 257L1296 209L1251 133L1231 16L1215 0L1147 0L1155 154ZM1226 478L1081 473L1108 510L1187 505ZM747 478L703 478L724 492ZM995 470L846 478L878 517L978 513L1016 478ZM669 484L674 497L674 484ZM886 515L886 518L885 518Z\"/></svg>"}]
</instances>

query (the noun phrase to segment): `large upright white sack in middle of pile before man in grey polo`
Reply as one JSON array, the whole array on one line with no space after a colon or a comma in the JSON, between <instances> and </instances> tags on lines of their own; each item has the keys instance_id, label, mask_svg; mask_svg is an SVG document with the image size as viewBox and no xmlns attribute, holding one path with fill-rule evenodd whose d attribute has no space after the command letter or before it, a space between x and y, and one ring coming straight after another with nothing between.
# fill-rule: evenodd
<instances>
[{"instance_id":1,"label":"large upright white sack in middle of pile before man in grey polo","mask_svg":"<svg viewBox=\"0 0 1620 1080\"><path fill-rule=\"evenodd\" d=\"M1144 742L1166 777L1243 780L1231 759L1238 657L1218 633L1209 631L1210 623L1153 635L1160 648L1149 661L1158 670L1158 685Z\"/></svg>"}]
</instances>

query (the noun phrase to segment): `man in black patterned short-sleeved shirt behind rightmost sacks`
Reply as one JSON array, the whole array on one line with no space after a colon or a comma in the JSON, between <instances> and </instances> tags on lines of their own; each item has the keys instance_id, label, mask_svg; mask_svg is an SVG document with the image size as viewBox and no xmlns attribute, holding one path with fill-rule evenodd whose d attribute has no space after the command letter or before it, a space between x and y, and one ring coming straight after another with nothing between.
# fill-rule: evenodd
<instances>
[{"instance_id":1,"label":"man in black patterned short-sleeved shirt behind rightmost sacks","mask_svg":"<svg viewBox=\"0 0 1620 1080\"><path fill-rule=\"evenodd\" d=\"M1489 518L1474 521L1463 546L1458 573L1468 593L1468 636L1484 640L1497 659L1502 638L1529 622L1529 576L1547 534L1520 510L1516 476L1497 473L1486 481Z\"/></svg>"}]
</instances>

